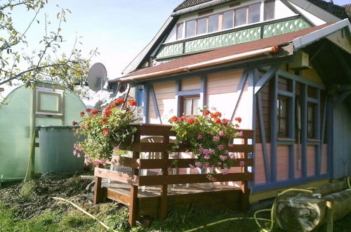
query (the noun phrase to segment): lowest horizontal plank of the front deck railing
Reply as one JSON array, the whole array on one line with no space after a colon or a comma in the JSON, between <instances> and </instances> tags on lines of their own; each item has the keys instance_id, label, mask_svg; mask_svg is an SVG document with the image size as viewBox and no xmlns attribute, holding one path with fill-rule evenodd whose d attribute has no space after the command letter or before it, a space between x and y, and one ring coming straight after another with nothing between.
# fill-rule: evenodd
<instances>
[{"instance_id":1,"label":"lowest horizontal plank of the front deck railing","mask_svg":"<svg viewBox=\"0 0 351 232\"><path fill-rule=\"evenodd\" d=\"M215 174L217 181L252 181L252 173ZM178 183L209 183L207 174L178 174L169 176L139 176L139 186L157 186Z\"/></svg>"}]
</instances>

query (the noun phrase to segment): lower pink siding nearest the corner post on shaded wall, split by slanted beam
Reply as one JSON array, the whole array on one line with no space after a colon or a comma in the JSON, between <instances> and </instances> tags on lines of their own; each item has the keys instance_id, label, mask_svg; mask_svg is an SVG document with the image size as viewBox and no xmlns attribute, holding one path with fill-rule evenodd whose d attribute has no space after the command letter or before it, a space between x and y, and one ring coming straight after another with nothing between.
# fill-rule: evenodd
<instances>
[{"instance_id":1,"label":"lower pink siding nearest the corner post on shaded wall, split by slanted beam","mask_svg":"<svg viewBox=\"0 0 351 232\"><path fill-rule=\"evenodd\" d=\"M265 162L263 160L262 143L256 143L255 149L255 183L266 183L267 179L265 176ZM270 165L270 143L267 144L267 156L268 164Z\"/></svg>"}]
</instances>

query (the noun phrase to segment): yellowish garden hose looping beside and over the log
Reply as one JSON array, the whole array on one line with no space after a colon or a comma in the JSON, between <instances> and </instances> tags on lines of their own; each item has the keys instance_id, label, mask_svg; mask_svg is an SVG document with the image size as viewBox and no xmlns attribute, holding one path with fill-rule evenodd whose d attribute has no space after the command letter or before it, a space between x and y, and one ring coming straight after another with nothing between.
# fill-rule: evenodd
<instances>
[{"instance_id":1,"label":"yellowish garden hose looping beside and over the log","mask_svg":"<svg viewBox=\"0 0 351 232\"><path fill-rule=\"evenodd\" d=\"M350 185L350 183L349 183L349 185ZM279 193L278 195L282 195L284 193L288 193L288 192L291 192L291 191L299 191L299 192L304 192L304 193L313 193L313 191L310 191L310 190L307 190L307 189L289 188L286 191L282 191L282 193ZM258 214L259 212L267 212L267 211L270 212L270 219L263 219L263 218L256 217L256 214ZM272 205L272 209L258 210L258 211L256 211L253 214L253 217L233 217L233 218L230 218L230 219L224 219L224 220L221 220L221 221L216 221L216 222L213 222L211 224L204 225L204 226L199 226L197 228L192 228L191 230L184 231L184 232L197 231L197 230L199 230L201 228L205 228L207 226L214 226L216 224L220 224L220 223L223 223L223 222L226 222L226 221L234 221L234 220L241 220L241 219L254 219L256 221L256 224L258 225L258 227L260 227L263 231L272 231L272 228L273 228L273 225L274 225L274 203ZM261 226L261 224L258 222L259 220L260 221L270 221L271 222L270 228L269 229L263 228L263 226Z\"/></svg>"}]
</instances>

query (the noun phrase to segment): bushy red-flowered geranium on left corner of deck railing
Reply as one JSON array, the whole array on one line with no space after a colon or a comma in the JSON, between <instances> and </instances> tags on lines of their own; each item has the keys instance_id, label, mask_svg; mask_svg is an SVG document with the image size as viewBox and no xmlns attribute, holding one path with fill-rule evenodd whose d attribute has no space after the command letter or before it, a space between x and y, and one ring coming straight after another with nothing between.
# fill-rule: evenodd
<instances>
[{"instance_id":1,"label":"bushy red-flowered geranium on left corner of deck railing","mask_svg":"<svg viewBox=\"0 0 351 232\"><path fill-rule=\"evenodd\" d=\"M76 134L86 137L84 141L74 144L73 155L84 155L86 165L91 162L95 166L103 165L110 160L113 150L119 149L119 146L112 147L112 141L119 145L131 144L136 128L130 124L138 121L133 113L136 102L128 101L122 109L120 104L124 104L121 98L107 105L102 112L87 108L86 112L80 112L81 122L72 122L73 125L79 124Z\"/></svg>"}]
</instances>

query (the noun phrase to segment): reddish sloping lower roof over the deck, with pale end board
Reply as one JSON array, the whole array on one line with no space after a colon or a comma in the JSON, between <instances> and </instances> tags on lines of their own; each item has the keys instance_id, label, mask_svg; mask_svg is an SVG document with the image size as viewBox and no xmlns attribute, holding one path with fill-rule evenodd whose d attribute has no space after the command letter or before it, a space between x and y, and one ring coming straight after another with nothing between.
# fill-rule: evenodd
<instances>
[{"instance_id":1,"label":"reddish sloping lower roof over the deck, with pale end board","mask_svg":"<svg viewBox=\"0 0 351 232\"><path fill-rule=\"evenodd\" d=\"M118 82L119 80L126 81L127 79L131 81L134 77L140 75L149 75L152 73L157 74L157 72L161 72L164 70L173 70L178 67L185 67L187 65L194 65L196 63L204 63L209 60L225 58L227 56L233 56L235 54L256 51L258 49L265 49L270 46L279 46L287 43L293 43L294 49L298 50L303 48L304 46L307 46L308 44L311 44L313 41L322 39L327 35L347 26L350 30L350 23L348 22L348 20L343 20L340 22L327 23L317 27L310 27L305 30L298 30L296 32L290 32L287 34L280 34L275 37L251 41L245 44L228 46L222 49L216 49L214 51L208 51L193 56L187 56L185 58L179 58L178 60L172 60L167 63L162 63L153 67L147 67L143 70L132 72L131 74L126 75L121 79L114 79L110 83ZM146 78L147 77L143 79Z\"/></svg>"}]
</instances>

